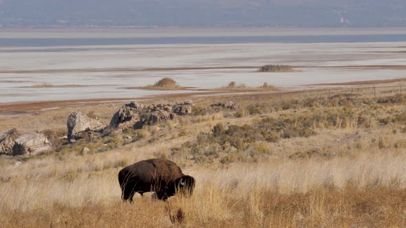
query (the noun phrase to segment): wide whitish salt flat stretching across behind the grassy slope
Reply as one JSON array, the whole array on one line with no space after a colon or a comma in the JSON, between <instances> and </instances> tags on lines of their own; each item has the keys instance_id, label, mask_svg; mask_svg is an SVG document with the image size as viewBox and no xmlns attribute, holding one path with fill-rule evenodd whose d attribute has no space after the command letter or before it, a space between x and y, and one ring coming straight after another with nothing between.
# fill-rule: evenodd
<instances>
[{"instance_id":1,"label":"wide whitish salt flat stretching across behind the grassy slope","mask_svg":"<svg viewBox=\"0 0 406 228\"><path fill-rule=\"evenodd\" d=\"M301 88L307 84L406 78L404 68L385 67L406 65L405 52L406 42L2 46L0 103L188 92L126 89L164 77L196 89L220 88L231 81L250 87L268 82ZM292 65L299 71L255 72L255 67L267 64ZM36 87L44 83L54 87Z\"/></svg>"}]
</instances>

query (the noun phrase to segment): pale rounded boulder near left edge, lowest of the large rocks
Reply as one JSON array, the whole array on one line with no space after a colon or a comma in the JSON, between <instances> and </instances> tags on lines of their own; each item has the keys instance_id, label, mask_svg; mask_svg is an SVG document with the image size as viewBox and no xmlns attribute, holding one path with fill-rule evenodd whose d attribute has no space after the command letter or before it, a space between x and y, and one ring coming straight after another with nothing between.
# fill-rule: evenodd
<instances>
[{"instance_id":1,"label":"pale rounded boulder near left edge, lowest of the large rocks","mask_svg":"<svg viewBox=\"0 0 406 228\"><path fill-rule=\"evenodd\" d=\"M15 140L13 155L39 155L40 152L51 150L50 141L41 133L21 135Z\"/></svg>"}]
</instances>

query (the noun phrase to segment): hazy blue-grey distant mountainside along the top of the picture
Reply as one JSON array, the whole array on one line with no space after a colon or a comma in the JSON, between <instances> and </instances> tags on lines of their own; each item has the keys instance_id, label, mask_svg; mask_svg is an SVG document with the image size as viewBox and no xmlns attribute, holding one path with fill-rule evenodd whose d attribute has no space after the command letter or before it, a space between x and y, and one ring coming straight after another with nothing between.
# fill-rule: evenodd
<instances>
[{"instance_id":1,"label":"hazy blue-grey distant mountainside along the top of the picture","mask_svg":"<svg viewBox=\"0 0 406 228\"><path fill-rule=\"evenodd\" d=\"M2 27L393 27L404 0L0 0Z\"/></svg>"}]
</instances>

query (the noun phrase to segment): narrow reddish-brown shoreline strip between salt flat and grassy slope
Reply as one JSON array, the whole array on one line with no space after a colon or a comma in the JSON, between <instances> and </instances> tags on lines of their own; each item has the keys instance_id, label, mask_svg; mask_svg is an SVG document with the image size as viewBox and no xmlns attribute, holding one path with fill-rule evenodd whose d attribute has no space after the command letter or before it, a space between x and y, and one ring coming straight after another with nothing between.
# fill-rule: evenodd
<instances>
[{"instance_id":1,"label":"narrow reddish-brown shoreline strip between salt flat and grassy slope","mask_svg":"<svg viewBox=\"0 0 406 228\"><path fill-rule=\"evenodd\" d=\"M240 89L197 89L196 92L189 93L171 93L171 94L158 94L149 95L144 97L133 97L133 98L94 98L94 99L78 99L78 100L45 100L40 102L7 102L0 103L0 119L3 117L12 117L18 115L38 115L43 111L63 109L66 107L74 106L92 106L102 103L118 103L130 100L167 100L167 99L184 99L184 98L202 98L201 100L209 100L211 98L222 98L226 95L264 95L264 94L280 94L280 93L299 93L302 91L321 91L323 89L328 90L333 89L351 89L353 86L368 86L371 84L383 84L387 87L398 87L396 82L405 82L406 78L389 79L389 80L365 80L365 81L354 81L354 82L339 82L339 83L321 83L321 84L304 84L303 86L312 87L310 89L289 89L289 88L273 88L273 89L263 89L263 88L240 88ZM391 84L394 84L391 86ZM314 87L317 88L314 88ZM343 86L343 87L336 87ZM400 85L402 87L403 85ZM406 87L406 86L405 86ZM361 87L357 87L361 88ZM267 91L268 93L261 93ZM273 92L271 92L273 91ZM200 101L197 101L200 102Z\"/></svg>"}]
</instances>

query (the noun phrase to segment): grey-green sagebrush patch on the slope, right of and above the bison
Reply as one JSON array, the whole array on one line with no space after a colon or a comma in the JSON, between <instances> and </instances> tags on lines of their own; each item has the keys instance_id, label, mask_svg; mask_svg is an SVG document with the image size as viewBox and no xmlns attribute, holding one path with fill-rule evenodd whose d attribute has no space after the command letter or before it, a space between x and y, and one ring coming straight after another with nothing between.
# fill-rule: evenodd
<instances>
[{"instance_id":1,"label":"grey-green sagebrush patch on the slope, right of and above the bison","mask_svg":"<svg viewBox=\"0 0 406 228\"><path fill-rule=\"evenodd\" d=\"M191 154L191 160L196 163L259 161L272 155L264 142L314 134L314 130L305 125L273 118L260 119L243 126L217 124L211 133L200 133L195 141L187 142L175 153L183 150Z\"/></svg>"}]
</instances>

